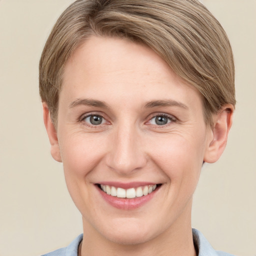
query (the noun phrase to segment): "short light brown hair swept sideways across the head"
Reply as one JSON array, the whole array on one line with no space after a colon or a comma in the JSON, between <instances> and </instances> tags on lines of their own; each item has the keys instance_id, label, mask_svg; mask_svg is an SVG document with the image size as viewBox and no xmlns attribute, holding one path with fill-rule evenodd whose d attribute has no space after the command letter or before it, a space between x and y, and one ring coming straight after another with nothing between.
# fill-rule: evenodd
<instances>
[{"instance_id":1,"label":"short light brown hair swept sideways across the head","mask_svg":"<svg viewBox=\"0 0 256 256\"><path fill-rule=\"evenodd\" d=\"M58 18L41 54L39 90L53 123L67 59L90 35L143 43L203 97L204 119L235 105L234 64L225 31L197 0L76 0Z\"/></svg>"}]
</instances>

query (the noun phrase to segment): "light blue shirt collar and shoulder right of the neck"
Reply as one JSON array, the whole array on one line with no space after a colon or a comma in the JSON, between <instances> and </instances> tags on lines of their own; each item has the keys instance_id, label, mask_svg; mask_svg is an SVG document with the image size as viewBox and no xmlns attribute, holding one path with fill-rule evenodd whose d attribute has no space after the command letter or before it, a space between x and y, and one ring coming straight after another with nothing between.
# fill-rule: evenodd
<instances>
[{"instance_id":1,"label":"light blue shirt collar and shoulder right of the neck","mask_svg":"<svg viewBox=\"0 0 256 256\"><path fill-rule=\"evenodd\" d=\"M198 256L234 256L227 252L214 250L203 234L197 229L193 228L194 246L197 248Z\"/></svg>"}]
</instances>

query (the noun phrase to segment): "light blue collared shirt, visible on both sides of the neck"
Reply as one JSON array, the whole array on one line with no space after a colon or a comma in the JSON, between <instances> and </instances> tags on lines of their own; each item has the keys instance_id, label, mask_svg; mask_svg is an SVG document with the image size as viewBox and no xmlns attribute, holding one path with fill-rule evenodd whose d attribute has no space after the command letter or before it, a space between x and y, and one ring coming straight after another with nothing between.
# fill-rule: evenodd
<instances>
[{"instance_id":1,"label":"light blue collared shirt, visible on both sides of the neck","mask_svg":"<svg viewBox=\"0 0 256 256\"><path fill-rule=\"evenodd\" d=\"M234 256L229 253L214 250L203 234L196 230L193 231L193 241L198 248L198 256ZM82 240L82 234L78 235L67 247L54 250L41 256L77 256L78 246Z\"/></svg>"}]
</instances>

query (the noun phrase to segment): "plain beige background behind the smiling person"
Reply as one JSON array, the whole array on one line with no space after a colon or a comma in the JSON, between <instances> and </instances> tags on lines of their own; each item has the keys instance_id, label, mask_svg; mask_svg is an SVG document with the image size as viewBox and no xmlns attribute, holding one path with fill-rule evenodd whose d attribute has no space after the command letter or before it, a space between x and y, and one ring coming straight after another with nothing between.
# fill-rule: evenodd
<instances>
[{"instance_id":1,"label":"plain beige background behind the smiling person","mask_svg":"<svg viewBox=\"0 0 256 256\"><path fill-rule=\"evenodd\" d=\"M0 256L40 255L81 229L61 164L51 159L38 96L38 60L71 0L0 0ZM256 0L204 0L236 63L237 106L224 155L203 167L192 224L211 244L256 255Z\"/></svg>"}]
</instances>

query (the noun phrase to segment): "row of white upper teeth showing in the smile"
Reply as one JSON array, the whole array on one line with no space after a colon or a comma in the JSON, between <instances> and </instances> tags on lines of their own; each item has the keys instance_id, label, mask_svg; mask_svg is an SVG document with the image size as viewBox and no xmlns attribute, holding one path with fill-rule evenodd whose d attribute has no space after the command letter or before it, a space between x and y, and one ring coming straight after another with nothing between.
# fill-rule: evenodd
<instances>
[{"instance_id":1,"label":"row of white upper teeth showing in the smile","mask_svg":"<svg viewBox=\"0 0 256 256\"><path fill-rule=\"evenodd\" d=\"M114 187L109 185L101 185L100 188L107 194L111 196L117 196L119 198L135 198L140 197L143 195L150 194L155 188L156 184L154 185L147 185L147 186L139 186L137 188L128 188L124 189L121 187Z\"/></svg>"}]
</instances>

